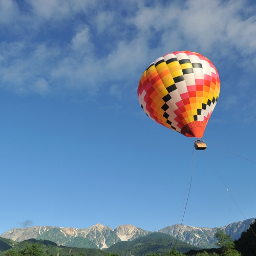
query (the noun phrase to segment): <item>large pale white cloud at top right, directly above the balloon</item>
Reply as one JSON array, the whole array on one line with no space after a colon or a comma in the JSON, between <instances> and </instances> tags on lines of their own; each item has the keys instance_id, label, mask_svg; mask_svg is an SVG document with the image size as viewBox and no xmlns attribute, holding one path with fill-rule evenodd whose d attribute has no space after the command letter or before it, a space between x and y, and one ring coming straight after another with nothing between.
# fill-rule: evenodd
<instances>
[{"instance_id":1,"label":"large pale white cloud at top right, directly above the balloon","mask_svg":"<svg viewBox=\"0 0 256 256\"><path fill-rule=\"evenodd\" d=\"M140 6L131 22L144 36L151 37L152 29L162 32L159 42L183 40L182 45L192 45L211 53L216 45L239 51L255 51L256 15L242 19L238 12L247 8L244 1L232 2L188 0L183 5L170 4L153 7ZM175 33L175 36L168 36ZM167 40L161 41L162 38ZM214 48L215 47L215 48Z\"/></svg>"}]
</instances>

